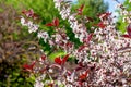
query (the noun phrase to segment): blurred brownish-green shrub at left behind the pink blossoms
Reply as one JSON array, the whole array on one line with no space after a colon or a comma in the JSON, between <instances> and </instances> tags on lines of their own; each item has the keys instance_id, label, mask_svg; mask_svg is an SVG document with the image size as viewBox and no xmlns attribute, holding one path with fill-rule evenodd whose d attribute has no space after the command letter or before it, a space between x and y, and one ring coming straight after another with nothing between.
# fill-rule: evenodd
<instances>
[{"instance_id":1,"label":"blurred brownish-green shrub at left behind the pink blossoms","mask_svg":"<svg viewBox=\"0 0 131 87\"><path fill-rule=\"evenodd\" d=\"M43 54L38 41L17 24L20 14L12 5L0 3L0 87L32 87L34 77L22 65Z\"/></svg>"}]
</instances>

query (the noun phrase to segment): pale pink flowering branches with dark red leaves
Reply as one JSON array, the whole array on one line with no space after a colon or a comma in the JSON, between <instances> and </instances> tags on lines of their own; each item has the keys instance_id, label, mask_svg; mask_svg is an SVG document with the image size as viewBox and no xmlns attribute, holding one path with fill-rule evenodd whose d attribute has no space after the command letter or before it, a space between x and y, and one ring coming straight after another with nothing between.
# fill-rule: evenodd
<instances>
[{"instance_id":1,"label":"pale pink flowering branches with dark red leaves","mask_svg":"<svg viewBox=\"0 0 131 87\"><path fill-rule=\"evenodd\" d=\"M130 87L131 86L131 18L128 18L127 35L121 35L116 29L111 13L105 12L98 15L99 23L94 24L88 33L85 22L78 21L76 16L83 15L82 4L76 13L71 13L71 4L64 0L53 0L55 7L60 12L63 20L68 20L70 27L82 44L79 48L70 41L66 28L59 27L59 20L55 18L46 26L55 27L56 33L48 35L31 28L29 21L21 18L22 25L28 27L28 32L38 32L38 38L43 38L50 47L63 50L64 57L55 58L55 63L50 63L48 55L23 67L32 73L38 73L35 87ZM126 15L130 12L121 9ZM29 15L27 15L29 13ZM34 12L25 12L26 16L34 16ZM130 16L129 16L130 17ZM86 23L92 20L84 17ZM33 26L33 24L32 24ZM38 25L37 25L38 26ZM31 30L32 29L32 30ZM74 58L76 63L70 65L69 58Z\"/></svg>"}]
</instances>

